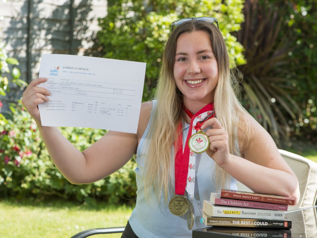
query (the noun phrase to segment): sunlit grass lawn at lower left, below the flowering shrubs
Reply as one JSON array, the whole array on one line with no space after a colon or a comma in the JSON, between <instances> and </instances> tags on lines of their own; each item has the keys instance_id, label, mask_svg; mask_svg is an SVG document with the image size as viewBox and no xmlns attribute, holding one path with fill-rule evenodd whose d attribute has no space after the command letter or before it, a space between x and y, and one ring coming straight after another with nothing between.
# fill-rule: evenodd
<instances>
[{"instance_id":1,"label":"sunlit grass lawn at lower left, below the flowering shrubs","mask_svg":"<svg viewBox=\"0 0 317 238\"><path fill-rule=\"evenodd\" d=\"M72 202L0 201L0 237L70 238L90 228L126 226L132 207L109 207L98 203L93 208ZM94 237L94 236L92 236ZM98 235L118 238L121 234Z\"/></svg>"}]
</instances>

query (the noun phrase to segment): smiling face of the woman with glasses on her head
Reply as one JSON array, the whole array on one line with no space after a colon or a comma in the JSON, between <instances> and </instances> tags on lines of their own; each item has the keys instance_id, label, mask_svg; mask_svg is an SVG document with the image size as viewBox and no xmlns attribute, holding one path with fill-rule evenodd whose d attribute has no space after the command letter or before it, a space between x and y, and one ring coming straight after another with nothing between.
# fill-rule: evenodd
<instances>
[{"instance_id":1,"label":"smiling face of the woman with glasses on her head","mask_svg":"<svg viewBox=\"0 0 317 238\"><path fill-rule=\"evenodd\" d=\"M178 37L173 73L187 108L213 102L218 64L207 32L186 32Z\"/></svg>"}]
</instances>

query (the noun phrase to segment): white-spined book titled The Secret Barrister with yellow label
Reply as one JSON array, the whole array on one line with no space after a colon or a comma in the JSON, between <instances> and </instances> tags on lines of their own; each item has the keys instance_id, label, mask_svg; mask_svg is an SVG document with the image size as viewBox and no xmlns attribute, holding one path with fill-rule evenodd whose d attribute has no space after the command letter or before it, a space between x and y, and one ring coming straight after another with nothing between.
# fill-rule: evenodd
<instances>
[{"instance_id":1,"label":"white-spined book titled The Secret Barrister with yellow label","mask_svg":"<svg viewBox=\"0 0 317 238\"><path fill-rule=\"evenodd\" d=\"M285 215L284 211L218 206L206 200L204 200L203 203L203 212L206 213L206 215L212 217L216 216L276 220L284 220Z\"/></svg>"}]
</instances>

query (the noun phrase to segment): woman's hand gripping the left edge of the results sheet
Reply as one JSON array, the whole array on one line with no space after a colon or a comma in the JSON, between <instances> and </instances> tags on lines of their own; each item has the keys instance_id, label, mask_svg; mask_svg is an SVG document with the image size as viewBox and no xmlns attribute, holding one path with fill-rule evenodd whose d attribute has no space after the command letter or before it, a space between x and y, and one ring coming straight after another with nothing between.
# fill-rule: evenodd
<instances>
[{"instance_id":1,"label":"woman's hand gripping the left edge of the results sheet","mask_svg":"<svg viewBox=\"0 0 317 238\"><path fill-rule=\"evenodd\" d=\"M29 83L22 95L22 103L33 117L36 123L41 124L40 111L38 109L38 104L43 102L49 102L46 96L50 96L50 92L42 87L36 87L40 83L47 81L47 78L37 78Z\"/></svg>"}]
</instances>

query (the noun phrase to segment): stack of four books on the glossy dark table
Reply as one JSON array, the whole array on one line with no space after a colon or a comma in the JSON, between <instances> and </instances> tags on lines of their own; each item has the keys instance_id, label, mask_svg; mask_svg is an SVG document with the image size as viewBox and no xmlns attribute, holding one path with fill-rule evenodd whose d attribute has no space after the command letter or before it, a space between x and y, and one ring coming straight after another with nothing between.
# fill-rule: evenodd
<instances>
[{"instance_id":1,"label":"stack of four books on the glossy dark table","mask_svg":"<svg viewBox=\"0 0 317 238\"><path fill-rule=\"evenodd\" d=\"M220 194L211 193L210 201L204 201L201 222L207 226L247 227L249 231L250 228L275 228L283 233L272 237L287 238L291 237L289 229L292 228L292 221L285 219L285 211L294 202L289 197L221 189ZM285 233L285 230L289 232ZM233 229L232 234L235 231ZM256 231L244 236L252 237Z\"/></svg>"}]
</instances>

